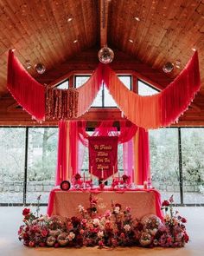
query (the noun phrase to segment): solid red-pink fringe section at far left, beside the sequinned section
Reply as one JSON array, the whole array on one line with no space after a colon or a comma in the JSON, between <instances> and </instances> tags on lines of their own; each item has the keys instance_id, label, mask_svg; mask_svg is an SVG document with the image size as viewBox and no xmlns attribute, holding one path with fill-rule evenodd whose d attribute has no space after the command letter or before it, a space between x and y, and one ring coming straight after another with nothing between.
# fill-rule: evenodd
<instances>
[{"instance_id":1,"label":"solid red-pink fringe section at far left, beside the sequinned section","mask_svg":"<svg viewBox=\"0 0 204 256\"><path fill-rule=\"evenodd\" d=\"M45 119L45 88L29 75L13 50L9 51L7 88L16 102L35 120Z\"/></svg>"}]
</instances>

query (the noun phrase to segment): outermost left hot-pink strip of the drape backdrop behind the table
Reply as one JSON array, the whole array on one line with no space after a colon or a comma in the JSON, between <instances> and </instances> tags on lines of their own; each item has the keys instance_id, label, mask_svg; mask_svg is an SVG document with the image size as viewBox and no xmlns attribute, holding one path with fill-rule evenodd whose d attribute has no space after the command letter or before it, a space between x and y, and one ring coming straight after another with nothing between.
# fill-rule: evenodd
<instances>
[{"instance_id":1,"label":"outermost left hot-pink strip of the drape backdrop behind the table","mask_svg":"<svg viewBox=\"0 0 204 256\"><path fill-rule=\"evenodd\" d=\"M65 180L67 180L67 122L60 121L55 185L58 186Z\"/></svg>"}]
</instances>

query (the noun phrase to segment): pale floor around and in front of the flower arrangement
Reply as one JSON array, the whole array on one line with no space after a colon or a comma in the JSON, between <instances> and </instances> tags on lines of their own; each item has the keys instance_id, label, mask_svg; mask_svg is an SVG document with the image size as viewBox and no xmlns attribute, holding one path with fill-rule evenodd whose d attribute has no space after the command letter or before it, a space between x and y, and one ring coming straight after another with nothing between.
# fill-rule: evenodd
<instances>
[{"instance_id":1,"label":"pale floor around and in front of the flower arrangement","mask_svg":"<svg viewBox=\"0 0 204 256\"><path fill-rule=\"evenodd\" d=\"M0 207L0 256L80 256L80 255L147 255L147 256L201 256L204 255L204 207L177 208L188 219L189 243L184 248L28 248L17 239L22 225L22 207ZM46 208L41 207L41 213Z\"/></svg>"}]
</instances>

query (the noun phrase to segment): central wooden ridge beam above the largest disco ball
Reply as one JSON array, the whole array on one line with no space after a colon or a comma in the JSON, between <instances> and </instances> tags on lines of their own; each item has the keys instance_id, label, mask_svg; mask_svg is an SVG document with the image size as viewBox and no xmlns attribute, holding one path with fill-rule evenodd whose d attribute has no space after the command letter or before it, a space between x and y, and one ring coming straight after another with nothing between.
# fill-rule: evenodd
<instances>
[{"instance_id":1,"label":"central wooden ridge beam above the largest disco ball","mask_svg":"<svg viewBox=\"0 0 204 256\"><path fill-rule=\"evenodd\" d=\"M100 47L107 44L107 27L108 27L108 0L99 0L100 10Z\"/></svg>"}]
</instances>

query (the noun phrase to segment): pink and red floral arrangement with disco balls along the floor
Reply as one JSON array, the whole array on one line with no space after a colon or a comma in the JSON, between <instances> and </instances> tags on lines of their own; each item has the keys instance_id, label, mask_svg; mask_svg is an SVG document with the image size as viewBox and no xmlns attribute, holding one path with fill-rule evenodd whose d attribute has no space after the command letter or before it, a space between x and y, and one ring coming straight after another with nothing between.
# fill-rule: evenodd
<instances>
[{"instance_id":1,"label":"pink and red floral arrangement with disco balls along the floor","mask_svg":"<svg viewBox=\"0 0 204 256\"><path fill-rule=\"evenodd\" d=\"M173 212L173 198L163 201L164 220L156 215L137 220L131 216L131 208L124 210L112 202L112 211L98 215L97 200L90 195L90 207L79 206L80 216L61 218L41 215L36 217L29 208L22 211L24 225L18 231L19 240L25 246L143 246L182 247L188 242L184 223L178 212ZM39 211L39 207L37 207ZM38 212L37 212L38 215Z\"/></svg>"}]
</instances>

